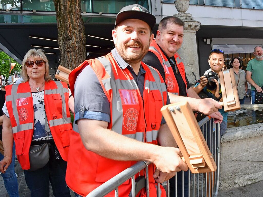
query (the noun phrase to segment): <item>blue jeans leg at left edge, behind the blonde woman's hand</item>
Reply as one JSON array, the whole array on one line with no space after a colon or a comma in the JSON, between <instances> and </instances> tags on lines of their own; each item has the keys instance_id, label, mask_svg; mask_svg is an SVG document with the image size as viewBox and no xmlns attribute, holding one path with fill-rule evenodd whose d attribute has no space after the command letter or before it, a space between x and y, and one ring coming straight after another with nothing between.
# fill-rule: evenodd
<instances>
[{"instance_id":1,"label":"blue jeans leg at left edge, behind the blonde woman's hand","mask_svg":"<svg viewBox=\"0 0 263 197\"><path fill-rule=\"evenodd\" d=\"M0 153L0 160L4 158L4 155ZM15 143L13 144L12 151L12 162L8 166L6 173L2 173L2 177L4 180L4 186L6 187L6 191L10 197L19 197L18 195L18 183L15 174Z\"/></svg>"}]
</instances>

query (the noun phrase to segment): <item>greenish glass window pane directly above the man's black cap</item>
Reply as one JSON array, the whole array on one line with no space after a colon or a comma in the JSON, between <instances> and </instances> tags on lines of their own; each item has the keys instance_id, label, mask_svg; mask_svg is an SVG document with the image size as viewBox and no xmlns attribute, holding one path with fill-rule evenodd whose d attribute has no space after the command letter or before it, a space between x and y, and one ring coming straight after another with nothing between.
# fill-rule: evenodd
<instances>
[{"instance_id":1,"label":"greenish glass window pane directly above the man's black cap","mask_svg":"<svg viewBox=\"0 0 263 197\"><path fill-rule=\"evenodd\" d=\"M130 4L140 4L148 9L148 1L112 1L112 0L93 0L93 12L94 13L119 13L120 9Z\"/></svg>"}]
</instances>

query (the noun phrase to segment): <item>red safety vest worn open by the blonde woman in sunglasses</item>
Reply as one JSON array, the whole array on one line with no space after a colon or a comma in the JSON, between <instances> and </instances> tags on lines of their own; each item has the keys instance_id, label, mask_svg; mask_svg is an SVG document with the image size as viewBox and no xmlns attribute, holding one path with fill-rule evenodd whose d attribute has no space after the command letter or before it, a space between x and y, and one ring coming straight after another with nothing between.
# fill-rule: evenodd
<instances>
[{"instance_id":1,"label":"red safety vest worn open by the blonde woman in sunglasses","mask_svg":"<svg viewBox=\"0 0 263 197\"><path fill-rule=\"evenodd\" d=\"M68 107L68 86L64 82L45 82L44 104L50 132L59 153L68 159L72 124ZM10 116L17 159L22 169L28 170L29 147L34 129L34 107L28 82L6 86L6 106Z\"/></svg>"}]
</instances>

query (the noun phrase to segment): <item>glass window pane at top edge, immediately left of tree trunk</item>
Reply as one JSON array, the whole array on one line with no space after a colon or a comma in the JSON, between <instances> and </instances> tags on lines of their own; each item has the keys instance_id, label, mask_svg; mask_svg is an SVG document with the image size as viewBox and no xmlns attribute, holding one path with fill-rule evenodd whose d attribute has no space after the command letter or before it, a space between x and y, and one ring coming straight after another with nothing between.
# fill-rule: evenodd
<instances>
[{"instance_id":1,"label":"glass window pane at top edge, immediately left of tree trunk","mask_svg":"<svg viewBox=\"0 0 263 197\"><path fill-rule=\"evenodd\" d=\"M23 10L36 10L36 11L49 11L55 12L55 6L53 0L34 0L27 1L22 0Z\"/></svg>"}]
</instances>

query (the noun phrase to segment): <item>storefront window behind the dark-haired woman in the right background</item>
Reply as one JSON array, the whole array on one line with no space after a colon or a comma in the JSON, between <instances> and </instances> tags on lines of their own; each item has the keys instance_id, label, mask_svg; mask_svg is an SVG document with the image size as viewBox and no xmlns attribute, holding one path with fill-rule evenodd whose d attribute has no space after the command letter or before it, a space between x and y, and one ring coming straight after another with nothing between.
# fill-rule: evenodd
<instances>
[{"instance_id":1,"label":"storefront window behind the dark-haired woman in the right background","mask_svg":"<svg viewBox=\"0 0 263 197\"><path fill-rule=\"evenodd\" d=\"M241 60L242 69L246 70L247 63L255 58L253 52L256 46L258 45L213 45L213 49L224 51L227 68L232 58L238 57Z\"/></svg>"}]
</instances>

